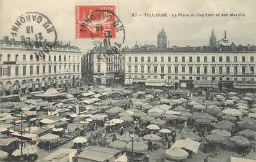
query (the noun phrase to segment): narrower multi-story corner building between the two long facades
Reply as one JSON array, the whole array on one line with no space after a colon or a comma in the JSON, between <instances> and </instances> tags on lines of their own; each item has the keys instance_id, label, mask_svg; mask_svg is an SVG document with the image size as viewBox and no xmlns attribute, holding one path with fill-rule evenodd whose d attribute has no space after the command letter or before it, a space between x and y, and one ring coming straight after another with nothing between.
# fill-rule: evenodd
<instances>
[{"instance_id":1,"label":"narrower multi-story corner building between the two long facades","mask_svg":"<svg viewBox=\"0 0 256 162\"><path fill-rule=\"evenodd\" d=\"M107 53L106 48L98 47L83 55L83 77L99 84L114 83L123 79L124 57L122 53Z\"/></svg>"}]
</instances>

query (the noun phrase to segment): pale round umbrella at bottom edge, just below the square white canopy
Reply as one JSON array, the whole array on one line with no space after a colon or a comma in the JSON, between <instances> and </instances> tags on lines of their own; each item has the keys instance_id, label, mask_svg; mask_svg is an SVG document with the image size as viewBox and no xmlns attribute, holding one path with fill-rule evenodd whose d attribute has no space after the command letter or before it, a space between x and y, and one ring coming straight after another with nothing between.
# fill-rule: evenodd
<instances>
[{"instance_id":1,"label":"pale round umbrella at bottom edge, just below the square white canopy","mask_svg":"<svg viewBox=\"0 0 256 162\"><path fill-rule=\"evenodd\" d=\"M167 158L170 158L171 160L183 160L188 158L188 155L188 152L176 147L165 150L165 156L167 156Z\"/></svg>"}]
</instances>

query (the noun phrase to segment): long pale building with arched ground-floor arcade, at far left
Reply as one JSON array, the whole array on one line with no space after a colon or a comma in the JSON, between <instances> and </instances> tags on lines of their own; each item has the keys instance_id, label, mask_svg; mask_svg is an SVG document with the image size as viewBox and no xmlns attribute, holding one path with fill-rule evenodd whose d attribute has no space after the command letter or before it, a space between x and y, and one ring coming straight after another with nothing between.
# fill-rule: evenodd
<instances>
[{"instance_id":1,"label":"long pale building with arched ground-floor arcade, at far left","mask_svg":"<svg viewBox=\"0 0 256 162\"><path fill-rule=\"evenodd\" d=\"M22 42L1 40L0 44L1 95L65 88L80 83L81 51L71 45L56 44L49 53L39 58L42 48L25 47Z\"/></svg>"}]
</instances>

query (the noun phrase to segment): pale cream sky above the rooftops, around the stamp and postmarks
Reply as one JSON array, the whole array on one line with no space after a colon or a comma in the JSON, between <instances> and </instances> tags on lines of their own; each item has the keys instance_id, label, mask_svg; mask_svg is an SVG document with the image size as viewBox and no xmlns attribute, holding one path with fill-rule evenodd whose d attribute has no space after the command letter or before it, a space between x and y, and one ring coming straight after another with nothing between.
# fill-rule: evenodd
<instances>
[{"instance_id":1,"label":"pale cream sky above the rooftops, around the stamp and postmarks","mask_svg":"<svg viewBox=\"0 0 256 162\"><path fill-rule=\"evenodd\" d=\"M117 16L122 20L125 45L157 45L157 34L162 29L167 33L170 45L209 45L214 29L217 40L224 31L229 42L256 45L256 0L130 0L130 1L68 1L68 0L0 0L0 37L10 36L15 20L25 12L40 12L54 24L58 41L77 45L89 50L93 42L75 39L75 5L114 4ZM132 13L244 13L245 17L131 17Z\"/></svg>"}]
</instances>

